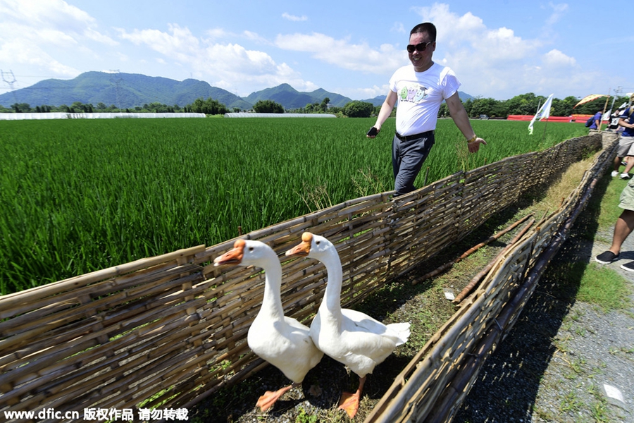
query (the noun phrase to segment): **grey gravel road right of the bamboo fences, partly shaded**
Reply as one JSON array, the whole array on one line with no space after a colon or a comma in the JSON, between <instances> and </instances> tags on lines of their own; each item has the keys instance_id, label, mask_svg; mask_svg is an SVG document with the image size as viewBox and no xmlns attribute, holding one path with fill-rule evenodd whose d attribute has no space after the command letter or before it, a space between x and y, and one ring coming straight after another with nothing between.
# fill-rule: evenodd
<instances>
[{"instance_id":1,"label":"grey gravel road right of the bamboo fences, partly shaded","mask_svg":"<svg viewBox=\"0 0 634 423\"><path fill-rule=\"evenodd\" d=\"M634 422L634 235L610 268L628 281L630 306L603 312L561 295L563 263L594 263L611 231L584 240L578 221L533 298L485 363L454 422Z\"/></svg>"}]
</instances>

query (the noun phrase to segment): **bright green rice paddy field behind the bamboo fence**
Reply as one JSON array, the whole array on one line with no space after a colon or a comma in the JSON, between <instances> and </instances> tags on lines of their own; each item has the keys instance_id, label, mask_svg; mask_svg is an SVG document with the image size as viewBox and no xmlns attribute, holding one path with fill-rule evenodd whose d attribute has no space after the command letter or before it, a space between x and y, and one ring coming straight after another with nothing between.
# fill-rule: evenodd
<instances>
[{"instance_id":1,"label":"bright green rice paddy field behind the bamboo fence","mask_svg":"<svg viewBox=\"0 0 634 423\"><path fill-rule=\"evenodd\" d=\"M0 122L0 293L214 245L239 226L247 233L392 190L394 120L370 140L374 121ZM588 133L578 123L537 122L532 136L526 122L472 125L488 145L470 155L454 123L438 122L418 187L427 171L430 182Z\"/></svg>"}]
</instances>

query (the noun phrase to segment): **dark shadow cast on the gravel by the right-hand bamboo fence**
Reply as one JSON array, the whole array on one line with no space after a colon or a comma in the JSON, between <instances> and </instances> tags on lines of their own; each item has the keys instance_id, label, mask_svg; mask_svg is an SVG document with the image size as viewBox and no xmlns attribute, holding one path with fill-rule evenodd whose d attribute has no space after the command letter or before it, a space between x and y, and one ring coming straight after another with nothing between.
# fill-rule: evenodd
<instances>
[{"instance_id":1,"label":"dark shadow cast on the gravel by the right-hand bamboo fence","mask_svg":"<svg viewBox=\"0 0 634 423\"><path fill-rule=\"evenodd\" d=\"M609 178L597 183L514 328L480 370L454 422L533 420L542 376L557 351L554 338L575 303L581 276L592 259L588 239L597 234L599 204L608 183Z\"/></svg>"}]
</instances>

